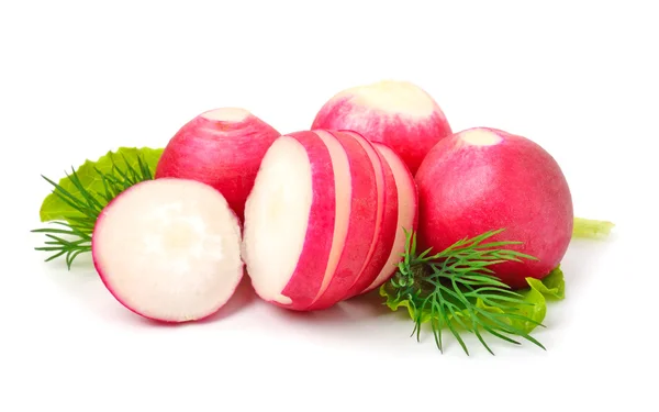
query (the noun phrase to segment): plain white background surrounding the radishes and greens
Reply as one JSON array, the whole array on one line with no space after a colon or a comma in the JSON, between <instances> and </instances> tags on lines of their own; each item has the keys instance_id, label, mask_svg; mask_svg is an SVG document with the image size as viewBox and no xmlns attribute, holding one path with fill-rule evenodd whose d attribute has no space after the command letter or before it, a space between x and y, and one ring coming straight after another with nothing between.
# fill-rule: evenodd
<instances>
[{"instance_id":1,"label":"plain white background surrounding the radishes and greens","mask_svg":"<svg viewBox=\"0 0 659 412\"><path fill-rule=\"evenodd\" d=\"M0 411L655 410L657 30L652 1L3 1L0 5ZM496 4L496 5L494 5ZM163 327L116 303L89 259L44 264L38 208L65 169L164 146L242 105L282 133L338 90L396 78L454 130L525 135L560 163L574 243L547 352L409 337L364 299L306 315L246 285L213 322ZM652 198L654 197L654 198Z\"/></svg>"}]
</instances>

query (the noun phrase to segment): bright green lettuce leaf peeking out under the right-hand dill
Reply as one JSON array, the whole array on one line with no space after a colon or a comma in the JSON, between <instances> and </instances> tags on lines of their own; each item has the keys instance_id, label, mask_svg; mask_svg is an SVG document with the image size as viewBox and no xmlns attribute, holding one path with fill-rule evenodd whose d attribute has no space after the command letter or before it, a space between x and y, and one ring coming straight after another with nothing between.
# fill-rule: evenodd
<instances>
[{"instance_id":1,"label":"bright green lettuce leaf peeking out under the right-hand dill","mask_svg":"<svg viewBox=\"0 0 659 412\"><path fill-rule=\"evenodd\" d=\"M524 304L512 304L511 303L504 310L501 308L489 307L485 303L483 303L482 300L479 299L476 302L476 305L478 308L489 310L491 312L498 312L498 313L506 313L507 312L507 313L521 314L526 318L529 318L530 320L533 320L537 323L541 323L545 320L545 316L547 314L547 302L548 301L560 301L560 300L565 299L566 286L565 286L563 272L560 269L560 266L558 266L554 270L551 270L551 272L547 277L545 277L543 280L538 280L538 279L534 279L534 278L526 278L526 282L528 283L528 288L517 291L517 293L520 293L522 296ZM390 290L387 288L387 286L388 286L388 283L384 283L380 288L380 296L387 299L384 304L392 311L398 311L401 308L405 308L407 310L407 313L410 314L410 318L412 320L416 319L417 313L416 313L416 310L414 309L413 304L411 304L411 302L406 299L396 298L395 293L391 293ZM470 323L469 322L470 313L468 311L460 311L457 313L462 319L462 322L465 322L467 324ZM450 316L450 314L449 314L449 318L453 318L453 316ZM426 323L426 322L431 321L429 311L424 311L423 313L421 313L421 321L422 321L422 323ZM514 319L514 318L509 319L509 322L512 322L513 326L524 331L525 333L529 333L535 327L537 327L537 323L523 321L523 320ZM454 322L454 327L459 327L457 322Z\"/></svg>"}]
</instances>

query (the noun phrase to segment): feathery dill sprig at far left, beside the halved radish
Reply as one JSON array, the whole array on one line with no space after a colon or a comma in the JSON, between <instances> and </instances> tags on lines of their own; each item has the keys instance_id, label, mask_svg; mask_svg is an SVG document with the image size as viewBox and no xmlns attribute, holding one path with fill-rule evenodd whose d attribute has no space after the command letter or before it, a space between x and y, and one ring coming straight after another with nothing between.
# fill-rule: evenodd
<instances>
[{"instance_id":1,"label":"feathery dill sprig at far left, beside the halved radish","mask_svg":"<svg viewBox=\"0 0 659 412\"><path fill-rule=\"evenodd\" d=\"M35 247L36 250L51 253L46 261L64 256L66 265L70 270L76 257L80 254L91 252L91 235L96 221L103 208L127 188L154 178L150 167L141 155L137 155L137 165L133 166L121 154L124 160L121 167L114 162L112 154L110 156L112 162L110 171L102 171L98 167L93 167L97 175L96 178L103 186L101 191L86 188L78 172L72 167L71 172L66 174L66 178L77 190L76 193L66 190L62 185L42 175L42 178L54 187L53 193L71 209L71 212L63 216L64 221L49 222L56 227L43 227L32 231L33 233L43 233L48 238L45 242L45 246ZM65 236L70 238L64 238Z\"/></svg>"}]
</instances>

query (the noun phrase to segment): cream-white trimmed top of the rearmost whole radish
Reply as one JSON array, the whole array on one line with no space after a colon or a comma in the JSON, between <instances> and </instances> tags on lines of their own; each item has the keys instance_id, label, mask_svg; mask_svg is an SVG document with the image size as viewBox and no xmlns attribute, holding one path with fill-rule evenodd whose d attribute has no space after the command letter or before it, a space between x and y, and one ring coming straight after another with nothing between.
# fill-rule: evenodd
<instances>
[{"instance_id":1,"label":"cream-white trimmed top of the rearmost whole radish","mask_svg":"<svg viewBox=\"0 0 659 412\"><path fill-rule=\"evenodd\" d=\"M434 100L424 90L406 81L380 81L349 89L348 93L358 104L410 118L426 118L436 109Z\"/></svg>"}]
</instances>

